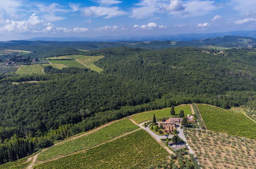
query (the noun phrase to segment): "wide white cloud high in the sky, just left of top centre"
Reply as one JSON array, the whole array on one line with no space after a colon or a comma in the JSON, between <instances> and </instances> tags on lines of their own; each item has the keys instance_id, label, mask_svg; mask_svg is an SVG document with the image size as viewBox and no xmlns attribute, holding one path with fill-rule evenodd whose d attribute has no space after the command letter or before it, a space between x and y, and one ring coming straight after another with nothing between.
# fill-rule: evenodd
<instances>
[{"instance_id":1,"label":"wide white cloud high in the sky, just left of top centre","mask_svg":"<svg viewBox=\"0 0 256 169\"><path fill-rule=\"evenodd\" d=\"M126 12L120 10L119 7L86 7L82 9L85 16L105 16L105 18L111 18L115 16L125 15Z\"/></svg>"}]
</instances>

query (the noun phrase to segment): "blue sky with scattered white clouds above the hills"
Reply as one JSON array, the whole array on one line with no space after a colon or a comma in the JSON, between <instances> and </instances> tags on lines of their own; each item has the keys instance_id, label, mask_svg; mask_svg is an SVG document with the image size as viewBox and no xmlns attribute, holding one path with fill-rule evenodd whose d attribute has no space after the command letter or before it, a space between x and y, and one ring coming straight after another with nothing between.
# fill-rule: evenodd
<instances>
[{"instance_id":1,"label":"blue sky with scattered white clouds above the hills","mask_svg":"<svg viewBox=\"0 0 256 169\"><path fill-rule=\"evenodd\" d=\"M256 0L0 0L0 41L255 28Z\"/></svg>"}]
</instances>

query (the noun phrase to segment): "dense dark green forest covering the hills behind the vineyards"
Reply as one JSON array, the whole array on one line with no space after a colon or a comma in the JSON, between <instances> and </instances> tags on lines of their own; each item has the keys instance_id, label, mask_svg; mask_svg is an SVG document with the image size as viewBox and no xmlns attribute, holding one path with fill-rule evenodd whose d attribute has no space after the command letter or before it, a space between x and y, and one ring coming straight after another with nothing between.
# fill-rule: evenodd
<instances>
[{"instance_id":1,"label":"dense dark green forest covering the hills behind the vineyards","mask_svg":"<svg viewBox=\"0 0 256 169\"><path fill-rule=\"evenodd\" d=\"M192 102L256 105L253 49L119 47L81 54L104 55L95 62L104 71L47 66L45 75L0 76L0 163L137 112ZM12 83L30 80L42 82Z\"/></svg>"}]
</instances>

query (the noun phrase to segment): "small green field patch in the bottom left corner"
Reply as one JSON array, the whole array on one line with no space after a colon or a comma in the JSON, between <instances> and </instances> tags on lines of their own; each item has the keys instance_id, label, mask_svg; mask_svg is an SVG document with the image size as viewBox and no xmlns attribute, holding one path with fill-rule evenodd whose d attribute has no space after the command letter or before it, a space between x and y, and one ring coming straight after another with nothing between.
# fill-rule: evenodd
<instances>
[{"instance_id":1,"label":"small green field patch in the bottom left corner","mask_svg":"<svg viewBox=\"0 0 256 169\"><path fill-rule=\"evenodd\" d=\"M17 161L2 164L2 165L0 165L0 169L27 168L27 166L31 163L31 161L27 162L28 158L29 157L25 157L25 158L19 159Z\"/></svg>"}]
</instances>

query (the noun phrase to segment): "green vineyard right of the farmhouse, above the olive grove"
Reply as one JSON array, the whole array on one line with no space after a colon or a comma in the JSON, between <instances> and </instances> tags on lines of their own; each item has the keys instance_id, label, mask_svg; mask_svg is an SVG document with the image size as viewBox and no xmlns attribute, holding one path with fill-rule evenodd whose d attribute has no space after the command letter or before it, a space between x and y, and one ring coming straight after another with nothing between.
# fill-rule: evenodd
<instances>
[{"instance_id":1,"label":"green vineyard right of the farmhouse, above the olive grove","mask_svg":"<svg viewBox=\"0 0 256 169\"><path fill-rule=\"evenodd\" d=\"M232 136L256 138L256 123L241 112L197 104L206 128Z\"/></svg>"}]
</instances>

